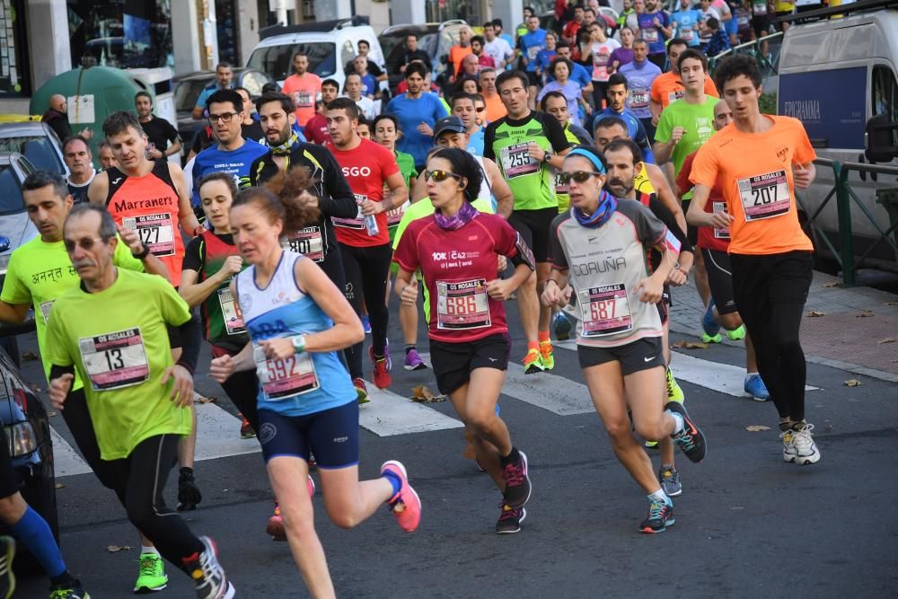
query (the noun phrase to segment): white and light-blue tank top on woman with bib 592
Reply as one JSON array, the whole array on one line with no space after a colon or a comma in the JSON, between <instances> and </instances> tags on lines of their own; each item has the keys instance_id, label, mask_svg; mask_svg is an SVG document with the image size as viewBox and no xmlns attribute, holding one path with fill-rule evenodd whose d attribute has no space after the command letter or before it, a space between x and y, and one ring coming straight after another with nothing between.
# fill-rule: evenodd
<instances>
[{"instance_id":1,"label":"white and light-blue tank top on woman with bib 592","mask_svg":"<svg viewBox=\"0 0 898 599\"><path fill-rule=\"evenodd\" d=\"M286 359L267 359L262 353L262 340L333 327L333 321L296 282L296 260L307 259L302 254L284 251L264 289L256 285L254 266L243 270L236 279L237 297L243 322L250 332L259 376L259 409L285 416L305 416L357 401L346 366L336 352L303 352Z\"/></svg>"}]
</instances>

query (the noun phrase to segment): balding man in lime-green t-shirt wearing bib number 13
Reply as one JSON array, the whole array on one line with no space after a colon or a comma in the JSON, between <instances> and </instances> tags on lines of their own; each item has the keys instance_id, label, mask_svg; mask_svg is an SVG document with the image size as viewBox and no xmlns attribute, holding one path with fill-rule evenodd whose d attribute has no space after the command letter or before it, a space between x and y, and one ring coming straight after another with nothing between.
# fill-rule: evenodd
<instances>
[{"instance_id":1,"label":"balding man in lime-green t-shirt wearing bib number 13","mask_svg":"<svg viewBox=\"0 0 898 599\"><path fill-rule=\"evenodd\" d=\"M189 404L199 347L189 330L189 308L162 278L113 265L116 225L102 207L73 208L63 242L81 286L53 304L53 313L66 317L51 313L48 322L50 400L57 410L65 410L78 374L101 460L114 473L128 520L163 558L191 577L200 599L233 597L215 543L191 533L163 498L178 440L191 430ZM167 326L179 328L185 341L177 364Z\"/></svg>"}]
</instances>

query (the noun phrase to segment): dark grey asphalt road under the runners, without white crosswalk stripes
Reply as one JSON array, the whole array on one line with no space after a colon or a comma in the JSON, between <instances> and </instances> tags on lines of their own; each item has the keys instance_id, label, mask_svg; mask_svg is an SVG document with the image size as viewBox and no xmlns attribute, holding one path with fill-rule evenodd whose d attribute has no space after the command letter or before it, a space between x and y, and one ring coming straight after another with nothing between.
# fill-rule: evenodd
<instances>
[{"instance_id":1,"label":"dark grey asphalt road under the runners, without white crosswalk stripes","mask_svg":"<svg viewBox=\"0 0 898 599\"><path fill-rule=\"evenodd\" d=\"M514 305L509 312L509 322L516 322ZM436 390L429 370L406 373L399 367L395 318L391 338L392 392L409 396L419 383ZM516 359L524 344L519 332L513 338ZM672 340L678 339L689 338ZM20 344L23 352L36 351L33 337ZM742 348L715 346L690 355L744 365ZM579 393L576 383L583 378L575 353L559 348L556 360L554 374L567 379L556 386ZM198 390L222 398L221 407L233 412L207 377L207 364L203 360ZM38 363L24 369L46 386ZM862 384L844 386L850 378ZM808 365L807 382L820 388L808 392L807 404L823 456L807 467L782 462L772 405L681 382L709 452L700 464L679 460L684 490L675 499L676 524L659 535L637 533L646 498L614 459L594 412L559 415L503 396L502 417L515 445L529 455L533 479L528 517L516 535L493 533L499 495L462 457L461 428L383 437L363 429L363 477L375 476L387 459L403 461L424 502L423 519L416 533L402 533L384 507L356 530L344 531L330 524L321 497L315 498L316 527L338 595L895 596L898 388L814 364ZM427 409L454 417L447 402ZM52 420L67 438L62 418ZM746 430L752 425L770 430ZM654 462L657 467L656 455ZM175 478L167 489L172 504ZM204 499L187 516L189 524L216 539L238 596L306 596L286 543L264 533L272 504L260 454L198 462L197 478ZM70 570L92 597L130 596L139 546L108 549L139 545L123 509L92 474L58 482L64 485L57 497ZM168 571L169 588L159 596L194 596L188 577L172 566ZM16 596L46 596L47 581L24 579L19 588Z\"/></svg>"}]
</instances>

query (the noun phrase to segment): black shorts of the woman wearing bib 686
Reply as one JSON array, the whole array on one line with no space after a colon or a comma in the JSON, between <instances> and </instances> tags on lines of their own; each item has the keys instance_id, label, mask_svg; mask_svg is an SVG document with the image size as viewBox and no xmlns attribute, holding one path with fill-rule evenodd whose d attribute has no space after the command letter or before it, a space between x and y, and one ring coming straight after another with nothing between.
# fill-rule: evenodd
<instances>
[{"instance_id":1,"label":"black shorts of the woman wearing bib 686","mask_svg":"<svg viewBox=\"0 0 898 599\"><path fill-rule=\"evenodd\" d=\"M467 384L475 368L507 370L510 353L511 339L506 333L453 343L430 339L436 386L447 395Z\"/></svg>"}]
</instances>

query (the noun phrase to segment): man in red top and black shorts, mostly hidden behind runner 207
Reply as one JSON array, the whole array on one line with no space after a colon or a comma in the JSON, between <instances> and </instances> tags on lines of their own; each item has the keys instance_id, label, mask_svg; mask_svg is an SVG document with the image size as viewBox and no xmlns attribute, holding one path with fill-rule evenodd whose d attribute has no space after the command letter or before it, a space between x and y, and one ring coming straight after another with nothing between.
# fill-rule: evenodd
<instances>
[{"instance_id":1,"label":"man in red top and black shorts, mostly hidden behind runner 207","mask_svg":"<svg viewBox=\"0 0 898 599\"><path fill-rule=\"evenodd\" d=\"M733 122L733 111L729 109L725 100L718 100L714 106L714 129L719 131ZM682 171L677 177L676 186L678 193L681 189L691 189L689 178L692 174L692 161L696 153L689 154L682 163ZM723 196L720 181L715 181L711 188L709 202L705 204L705 212L726 211L726 199ZM729 231L726 229L709 229L700 227L699 244L701 254L704 257L705 269L708 272L708 283L711 291L709 310L705 311L702 319L706 343L720 342L720 327L726 330L726 337L730 340L745 339L745 366L744 381L745 393L758 401L770 399L770 393L758 374L758 362L754 355L752 338L745 334L745 327L733 299L733 274L730 266Z\"/></svg>"}]
</instances>

